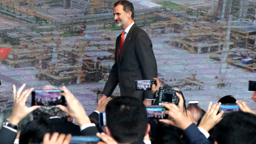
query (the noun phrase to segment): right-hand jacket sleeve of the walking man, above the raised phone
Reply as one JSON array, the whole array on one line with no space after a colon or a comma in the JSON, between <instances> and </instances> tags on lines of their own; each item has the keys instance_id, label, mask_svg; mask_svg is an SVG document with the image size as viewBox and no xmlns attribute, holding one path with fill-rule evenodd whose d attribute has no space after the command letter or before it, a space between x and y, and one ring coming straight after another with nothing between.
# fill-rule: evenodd
<instances>
[{"instance_id":1,"label":"right-hand jacket sleeve of the walking man, above the raised phone","mask_svg":"<svg viewBox=\"0 0 256 144\"><path fill-rule=\"evenodd\" d=\"M153 79L157 77L157 64L153 45L145 31L138 33L135 42L135 51L141 67L142 79ZM154 99L151 91L144 92L145 99Z\"/></svg>"}]
</instances>

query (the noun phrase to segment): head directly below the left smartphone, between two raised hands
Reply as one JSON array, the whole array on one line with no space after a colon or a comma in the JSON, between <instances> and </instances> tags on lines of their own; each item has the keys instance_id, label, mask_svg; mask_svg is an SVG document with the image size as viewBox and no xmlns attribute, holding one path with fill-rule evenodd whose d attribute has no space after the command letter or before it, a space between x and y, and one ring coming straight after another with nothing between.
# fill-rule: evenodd
<instances>
[{"instance_id":1,"label":"head directly below the left smartphone, between two raised hands","mask_svg":"<svg viewBox=\"0 0 256 144\"><path fill-rule=\"evenodd\" d=\"M41 108L33 111L34 118L39 118L41 116L46 116L47 118L58 116L61 119L65 119L65 114L64 111L55 106L41 106Z\"/></svg>"}]
</instances>

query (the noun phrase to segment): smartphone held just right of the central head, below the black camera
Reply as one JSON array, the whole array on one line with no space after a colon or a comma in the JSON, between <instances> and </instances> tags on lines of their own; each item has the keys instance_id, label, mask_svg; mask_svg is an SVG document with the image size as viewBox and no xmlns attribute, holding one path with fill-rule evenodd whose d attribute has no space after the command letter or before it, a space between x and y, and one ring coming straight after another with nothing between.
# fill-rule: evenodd
<instances>
[{"instance_id":1,"label":"smartphone held just right of the central head, below the black camera","mask_svg":"<svg viewBox=\"0 0 256 144\"><path fill-rule=\"evenodd\" d=\"M146 106L148 119L167 119L168 115L164 114L164 106Z\"/></svg>"}]
</instances>

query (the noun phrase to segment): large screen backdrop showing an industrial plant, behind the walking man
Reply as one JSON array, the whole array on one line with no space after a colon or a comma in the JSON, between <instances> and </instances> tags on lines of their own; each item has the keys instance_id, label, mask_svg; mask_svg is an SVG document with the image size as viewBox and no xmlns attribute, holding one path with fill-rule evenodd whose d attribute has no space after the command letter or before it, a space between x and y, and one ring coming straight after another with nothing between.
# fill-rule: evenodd
<instances>
[{"instance_id":1,"label":"large screen backdrop showing an industrial plant, behind the walking man","mask_svg":"<svg viewBox=\"0 0 256 144\"><path fill-rule=\"evenodd\" d=\"M13 102L12 84L35 90L65 85L92 113L123 31L115 24L115 2L1 0L0 108ZM248 91L248 81L256 81L254 0L130 2L135 24L153 43L163 85L181 90L186 102L198 100L204 110L210 101L233 95L255 111ZM113 95L119 94L117 86Z\"/></svg>"}]
</instances>

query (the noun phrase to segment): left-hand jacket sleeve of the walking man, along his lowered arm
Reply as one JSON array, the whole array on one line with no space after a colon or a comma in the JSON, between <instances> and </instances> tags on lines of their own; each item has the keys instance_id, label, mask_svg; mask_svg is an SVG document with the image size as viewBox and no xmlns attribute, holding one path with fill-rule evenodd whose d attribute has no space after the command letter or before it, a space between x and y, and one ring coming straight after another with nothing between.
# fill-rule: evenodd
<instances>
[{"instance_id":1,"label":"left-hand jacket sleeve of the walking man, along his lowered arm","mask_svg":"<svg viewBox=\"0 0 256 144\"><path fill-rule=\"evenodd\" d=\"M115 90L117 84L118 84L118 68L117 68L117 63L115 62L115 64L110 70L108 81L104 86L102 94L105 94L107 97L110 97L113 91Z\"/></svg>"}]
</instances>

